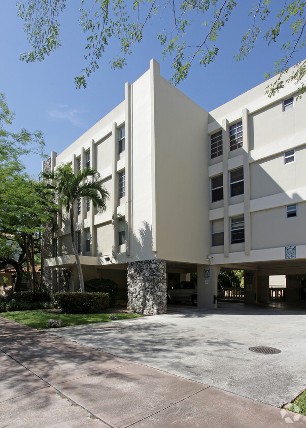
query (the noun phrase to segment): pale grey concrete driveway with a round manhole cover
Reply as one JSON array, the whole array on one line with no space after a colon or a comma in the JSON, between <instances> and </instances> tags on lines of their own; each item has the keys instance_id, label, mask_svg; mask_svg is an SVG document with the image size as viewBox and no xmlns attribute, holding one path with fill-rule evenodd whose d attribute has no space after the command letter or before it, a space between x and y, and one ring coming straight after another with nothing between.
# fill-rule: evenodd
<instances>
[{"instance_id":1,"label":"pale grey concrete driveway with a round manhole cover","mask_svg":"<svg viewBox=\"0 0 306 428\"><path fill-rule=\"evenodd\" d=\"M305 308L219 306L169 305L164 315L47 331L263 403L293 400L306 388Z\"/></svg>"}]
</instances>

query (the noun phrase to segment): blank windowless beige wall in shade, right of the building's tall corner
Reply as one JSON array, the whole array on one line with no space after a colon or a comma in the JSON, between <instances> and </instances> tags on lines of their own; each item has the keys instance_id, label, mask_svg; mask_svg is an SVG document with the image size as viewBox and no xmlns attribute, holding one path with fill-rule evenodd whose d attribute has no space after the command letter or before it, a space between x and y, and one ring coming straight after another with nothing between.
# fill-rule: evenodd
<instances>
[{"instance_id":1,"label":"blank windowless beige wall in shade, right of the building's tall corner","mask_svg":"<svg viewBox=\"0 0 306 428\"><path fill-rule=\"evenodd\" d=\"M200 263L210 231L208 113L158 76L154 87L156 249L158 258ZM166 120L165 120L166 118Z\"/></svg>"}]
</instances>

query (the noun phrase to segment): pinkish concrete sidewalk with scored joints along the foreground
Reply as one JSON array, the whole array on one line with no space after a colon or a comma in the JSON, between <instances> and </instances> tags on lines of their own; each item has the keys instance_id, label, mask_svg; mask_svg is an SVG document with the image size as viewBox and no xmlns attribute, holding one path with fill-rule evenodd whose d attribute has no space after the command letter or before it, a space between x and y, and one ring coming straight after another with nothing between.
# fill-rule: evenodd
<instances>
[{"instance_id":1,"label":"pinkish concrete sidewalk with scored joints along the foreground","mask_svg":"<svg viewBox=\"0 0 306 428\"><path fill-rule=\"evenodd\" d=\"M306 417L0 318L0 426L281 427Z\"/></svg>"}]
</instances>

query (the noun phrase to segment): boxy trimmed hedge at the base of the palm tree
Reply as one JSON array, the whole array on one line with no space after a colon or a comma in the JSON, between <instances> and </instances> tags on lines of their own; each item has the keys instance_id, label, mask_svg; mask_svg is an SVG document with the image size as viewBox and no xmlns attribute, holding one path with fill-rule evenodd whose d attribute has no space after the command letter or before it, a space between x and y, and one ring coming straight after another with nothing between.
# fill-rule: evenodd
<instances>
[{"instance_id":1,"label":"boxy trimmed hedge at the base of the palm tree","mask_svg":"<svg viewBox=\"0 0 306 428\"><path fill-rule=\"evenodd\" d=\"M55 293L54 304L65 313L99 313L110 303L108 293Z\"/></svg>"}]
</instances>

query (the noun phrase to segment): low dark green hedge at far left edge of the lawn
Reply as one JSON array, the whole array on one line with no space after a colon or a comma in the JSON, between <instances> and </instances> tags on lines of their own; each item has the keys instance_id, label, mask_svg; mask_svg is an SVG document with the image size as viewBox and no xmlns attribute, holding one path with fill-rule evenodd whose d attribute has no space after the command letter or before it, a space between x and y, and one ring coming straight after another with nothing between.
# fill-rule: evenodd
<instances>
[{"instance_id":1,"label":"low dark green hedge at far left edge of the lawn","mask_svg":"<svg viewBox=\"0 0 306 428\"><path fill-rule=\"evenodd\" d=\"M12 296L0 296L0 312L15 310L44 309L49 306L51 297L47 292L16 292Z\"/></svg>"}]
</instances>

